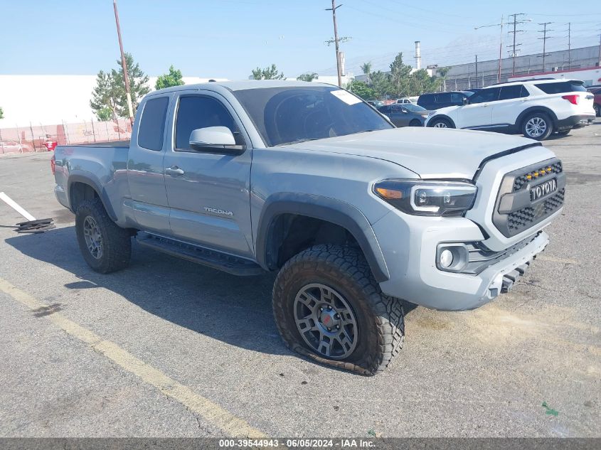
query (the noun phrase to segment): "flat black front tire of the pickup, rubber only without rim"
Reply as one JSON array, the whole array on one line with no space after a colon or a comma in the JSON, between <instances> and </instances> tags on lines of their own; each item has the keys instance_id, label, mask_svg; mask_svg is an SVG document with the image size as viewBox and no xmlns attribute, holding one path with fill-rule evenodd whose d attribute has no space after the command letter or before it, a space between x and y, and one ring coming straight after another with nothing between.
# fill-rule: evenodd
<instances>
[{"instance_id":1,"label":"flat black front tire of the pickup, rubber only without rim","mask_svg":"<svg viewBox=\"0 0 601 450\"><path fill-rule=\"evenodd\" d=\"M330 286L344 296L358 322L356 348L344 360L332 360L310 348L294 321L294 299L308 284ZM403 346L405 321L399 299L382 293L360 250L316 245L289 259L273 287L273 312L284 343L302 355L361 375L376 375Z\"/></svg>"}]
</instances>

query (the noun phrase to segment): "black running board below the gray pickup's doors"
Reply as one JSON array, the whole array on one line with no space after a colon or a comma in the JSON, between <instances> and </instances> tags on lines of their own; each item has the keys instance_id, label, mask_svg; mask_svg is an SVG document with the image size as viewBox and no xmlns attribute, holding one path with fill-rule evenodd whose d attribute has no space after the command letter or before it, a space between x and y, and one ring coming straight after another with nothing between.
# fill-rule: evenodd
<instances>
[{"instance_id":1,"label":"black running board below the gray pickup's doors","mask_svg":"<svg viewBox=\"0 0 601 450\"><path fill-rule=\"evenodd\" d=\"M171 255L181 259L187 259L203 266L211 267L212 269L228 272L228 274L238 275L240 277L249 277L252 275L265 274L259 264L249 261L248 259L238 258L232 255L227 255L216 250L208 250L196 245L186 244L169 239L151 235L146 232L139 232L136 240L142 247L148 247L166 255Z\"/></svg>"}]
</instances>

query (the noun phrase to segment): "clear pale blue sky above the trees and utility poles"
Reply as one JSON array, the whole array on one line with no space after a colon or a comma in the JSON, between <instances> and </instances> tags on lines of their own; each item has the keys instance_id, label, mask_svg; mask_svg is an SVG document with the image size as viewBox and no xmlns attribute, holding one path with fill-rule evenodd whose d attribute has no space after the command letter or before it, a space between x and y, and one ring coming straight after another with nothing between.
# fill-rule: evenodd
<instances>
[{"instance_id":1,"label":"clear pale blue sky above the trees and utility poles","mask_svg":"<svg viewBox=\"0 0 601 450\"><path fill-rule=\"evenodd\" d=\"M501 15L525 13L518 26L521 53L540 53L542 29L553 22L547 51L599 45L599 0L395 1L337 0L339 37L347 72L361 63L385 70L398 52L415 65L421 41L422 66L498 58ZM148 75L169 65L184 76L245 79L257 66L275 63L287 77L336 73L329 0L118 0L124 49ZM566 11L566 9L568 11ZM94 75L116 68L119 44L112 0L0 0L4 17L0 74ZM8 20L7 20L8 19ZM511 35L503 33L504 56Z\"/></svg>"}]
</instances>

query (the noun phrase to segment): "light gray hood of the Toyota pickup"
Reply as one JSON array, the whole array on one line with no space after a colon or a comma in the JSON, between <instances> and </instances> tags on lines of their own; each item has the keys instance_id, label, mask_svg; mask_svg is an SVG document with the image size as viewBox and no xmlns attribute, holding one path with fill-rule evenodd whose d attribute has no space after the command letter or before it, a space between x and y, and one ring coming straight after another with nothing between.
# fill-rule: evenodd
<instances>
[{"instance_id":1,"label":"light gray hood of the Toyota pickup","mask_svg":"<svg viewBox=\"0 0 601 450\"><path fill-rule=\"evenodd\" d=\"M538 142L505 134L405 127L282 147L384 159L408 168L421 178L471 179L489 156L532 144Z\"/></svg>"}]
</instances>

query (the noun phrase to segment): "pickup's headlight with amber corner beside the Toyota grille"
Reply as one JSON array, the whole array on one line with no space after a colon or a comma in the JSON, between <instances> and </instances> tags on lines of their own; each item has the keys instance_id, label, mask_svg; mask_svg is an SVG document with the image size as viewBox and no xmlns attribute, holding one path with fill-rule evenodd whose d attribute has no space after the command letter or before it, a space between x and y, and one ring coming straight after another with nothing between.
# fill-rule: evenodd
<instances>
[{"instance_id":1,"label":"pickup's headlight with amber corner beside the Toyota grille","mask_svg":"<svg viewBox=\"0 0 601 450\"><path fill-rule=\"evenodd\" d=\"M474 205L478 188L459 181L390 179L378 181L373 192L403 213L462 216Z\"/></svg>"}]
</instances>

